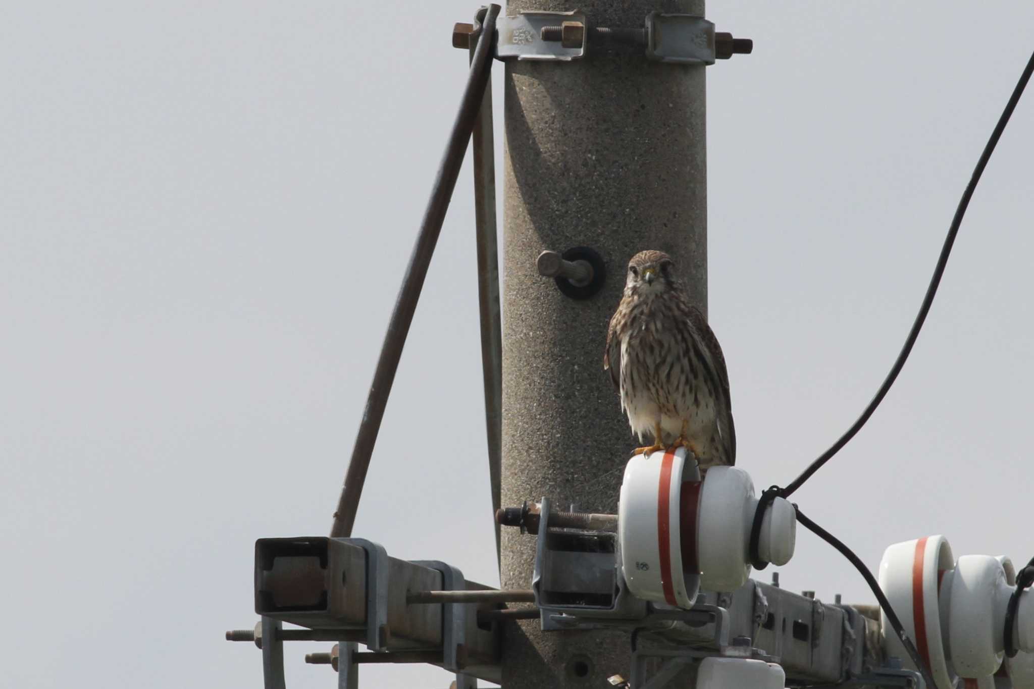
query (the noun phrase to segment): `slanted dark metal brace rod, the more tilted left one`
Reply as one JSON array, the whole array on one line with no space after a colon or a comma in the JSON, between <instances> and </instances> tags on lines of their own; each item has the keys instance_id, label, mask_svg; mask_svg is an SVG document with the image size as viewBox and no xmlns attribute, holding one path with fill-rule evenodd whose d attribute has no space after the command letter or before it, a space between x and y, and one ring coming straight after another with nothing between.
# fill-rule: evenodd
<instances>
[{"instance_id":1,"label":"slanted dark metal brace rod, the more tilted left one","mask_svg":"<svg viewBox=\"0 0 1034 689\"><path fill-rule=\"evenodd\" d=\"M402 279L402 287L399 289L398 300L395 302L395 309L392 311L391 320L388 323L388 333L385 335L384 345L381 347L381 357L377 359L377 368L373 373L373 382L370 384L370 394L366 399L366 408L359 425L356 444L352 450L352 460L348 462L348 470L344 474L341 497L338 499L337 510L334 512L334 524L330 531L332 538L352 535L352 527L356 522L356 510L359 507L359 498L363 493L366 472L370 467L373 445L376 443L381 421L385 415L385 407L388 405L388 395L391 393L392 382L395 380L398 362L402 357L402 347L405 345L405 338L409 333L409 325L413 323L413 314L416 312L417 302L420 300L420 290L427 277L427 268L431 262L434 245L442 231L442 223L445 221L446 211L449 209L449 201L452 199L452 192L456 187L456 179L459 177L459 169L463 164L463 157L466 155L466 148L470 142L474 123L481 109L485 87L491 75L495 18L498 17L499 9L499 5L490 5L485 14L481 36L470 61L470 72L467 76L466 87L463 89L459 113L453 123L449 144L446 147L442 165L438 167L434 186L431 189L431 197L427 202L427 210L424 211L424 219L420 225L417 243L413 247L409 264L406 267L405 277Z\"/></svg>"}]
</instances>

